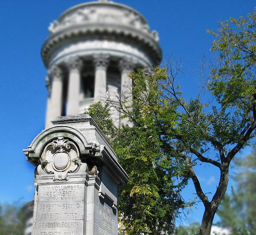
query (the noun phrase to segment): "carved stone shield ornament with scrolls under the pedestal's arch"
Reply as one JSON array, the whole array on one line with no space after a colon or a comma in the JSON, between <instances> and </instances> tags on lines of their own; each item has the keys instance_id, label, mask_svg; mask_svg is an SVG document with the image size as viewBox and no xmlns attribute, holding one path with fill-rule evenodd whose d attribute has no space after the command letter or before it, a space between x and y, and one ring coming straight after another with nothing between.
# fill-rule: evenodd
<instances>
[{"instance_id":1,"label":"carved stone shield ornament with scrolls under the pedestal's arch","mask_svg":"<svg viewBox=\"0 0 256 235\"><path fill-rule=\"evenodd\" d=\"M67 173L76 172L81 166L76 144L64 137L48 143L40 160L41 168L47 174L54 174L53 181L68 180Z\"/></svg>"}]
</instances>

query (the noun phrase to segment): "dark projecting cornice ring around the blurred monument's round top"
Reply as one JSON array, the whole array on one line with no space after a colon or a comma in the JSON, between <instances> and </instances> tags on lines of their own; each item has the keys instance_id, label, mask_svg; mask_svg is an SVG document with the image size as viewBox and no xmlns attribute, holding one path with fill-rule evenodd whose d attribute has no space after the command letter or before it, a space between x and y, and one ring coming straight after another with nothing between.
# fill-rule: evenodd
<instances>
[{"instance_id":1,"label":"dark projecting cornice ring around the blurred monument's round top","mask_svg":"<svg viewBox=\"0 0 256 235\"><path fill-rule=\"evenodd\" d=\"M49 65L49 57L55 52L56 46L62 41L69 40L70 38L80 40L81 36L91 36L92 38L102 38L104 40L112 40L115 38L116 42L134 41L141 46L145 47L145 50L155 65L158 65L162 60L162 50L160 45L154 40L154 38L141 32L137 29L128 28L119 25L106 25L101 23L95 23L90 25L77 25L72 28L64 29L56 34L52 34L44 43L41 49L41 57L45 66ZM128 43L129 44L129 43Z\"/></svg>"}]
</instances>

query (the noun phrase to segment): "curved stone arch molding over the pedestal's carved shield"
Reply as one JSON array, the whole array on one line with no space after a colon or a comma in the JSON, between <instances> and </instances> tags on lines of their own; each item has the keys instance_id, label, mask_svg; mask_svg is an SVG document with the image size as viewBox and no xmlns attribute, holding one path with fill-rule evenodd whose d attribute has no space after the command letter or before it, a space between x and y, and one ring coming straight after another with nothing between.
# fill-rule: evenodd
<instances>
[{"instance_id":1,"label":"curved stone arch molding over the pedestal's carved shield","mask_svg":"<svg viewBox=\"0 0 256 235\"><path fill-rule=\"evenodd\" d=\"M92 144L89 143L84 135L78 130L70 126L53 126L47 130L44 130L35 137L31 145L27 149L24 149L24 153L33 165L38 165L38 160L41 157L41 153L44 147L57 137L65 137L76 143L80 154L87 154L88 149Z\"/></svg>"}]
</instances>

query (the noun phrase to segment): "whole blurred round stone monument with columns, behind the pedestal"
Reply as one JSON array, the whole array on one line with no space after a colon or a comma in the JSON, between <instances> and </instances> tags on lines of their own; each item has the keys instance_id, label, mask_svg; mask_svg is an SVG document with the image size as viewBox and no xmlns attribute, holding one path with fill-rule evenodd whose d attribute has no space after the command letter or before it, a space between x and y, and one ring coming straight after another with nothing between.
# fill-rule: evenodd
<instances>
[{"instance_id":1,"label":"whole blurred round stone monument with columns, behind the pedestal","mask_svg":"<svg viewBox=\"0 0 256 235\"><path fill-rule=\"evenodd\" d=\"M64 11L50 24L49 34L41 49L49 71L46 127L58 116L83 113L106 95L118 105L121 94L131 97L129 73L151 69L162 59L157 32L145 18L107 0ZM118 125L114 109L112 117Z\"/></svg>"}]
</instances>

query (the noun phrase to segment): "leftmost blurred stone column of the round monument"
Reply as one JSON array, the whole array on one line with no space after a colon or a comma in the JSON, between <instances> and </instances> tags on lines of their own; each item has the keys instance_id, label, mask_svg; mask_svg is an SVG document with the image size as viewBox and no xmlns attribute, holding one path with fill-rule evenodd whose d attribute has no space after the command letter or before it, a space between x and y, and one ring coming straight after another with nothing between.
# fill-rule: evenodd
<instances>
[{"instance_id":1,"label":"leftmost blurred stone column of the round monument","mask_svg":"<svg viewBox=\"0 0 256 235\"><path fill-rule=\"evenodd\" d=\"M61 116L62 109L62 92L63 92L63 79L62 71L54 65L49 70L49 76L52 80L52 89L50 91L50 97L47 103L47 117L46 117L46 129L52 126L52 120Z\"/></svg>"}]
</instances>

